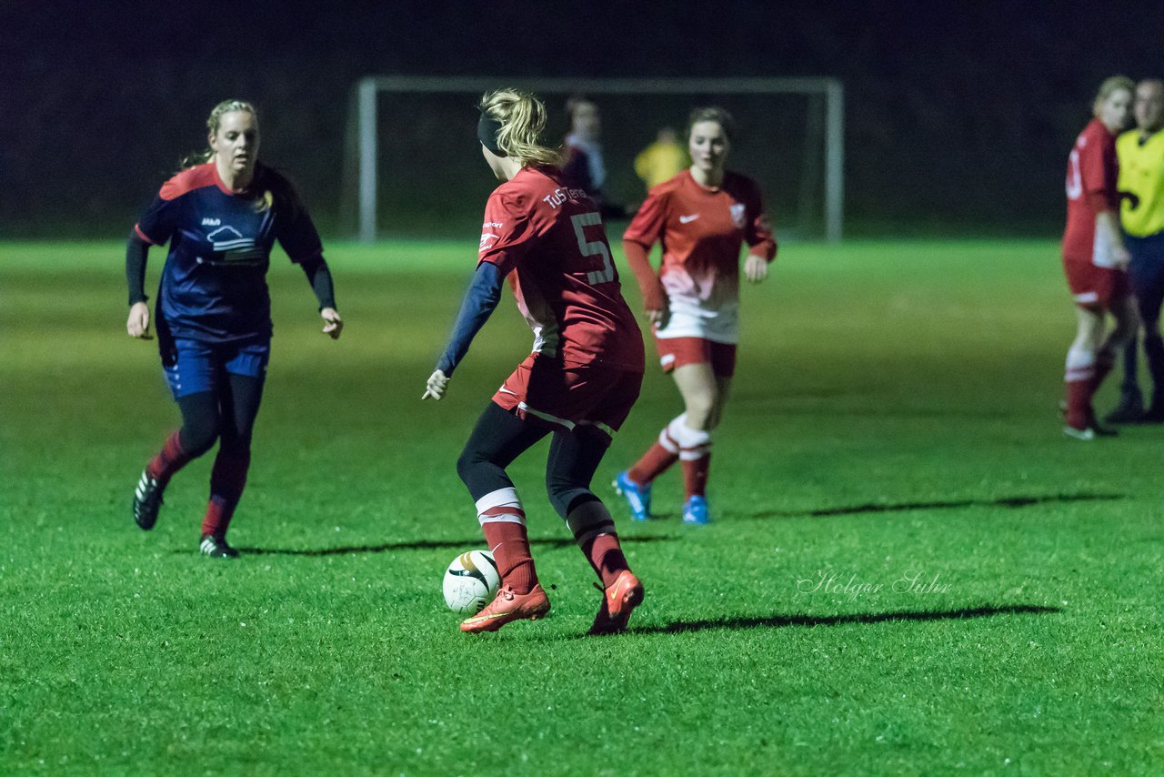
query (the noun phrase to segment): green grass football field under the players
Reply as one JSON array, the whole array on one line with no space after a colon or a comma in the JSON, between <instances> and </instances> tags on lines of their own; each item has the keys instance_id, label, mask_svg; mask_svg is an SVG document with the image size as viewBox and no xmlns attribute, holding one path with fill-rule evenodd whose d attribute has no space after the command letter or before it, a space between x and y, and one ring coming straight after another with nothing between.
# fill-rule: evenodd
<instances>
[{"instance_id":1,"label":"green grass football field under the players","mask_svg":"<svg viewBox=\"0 0 1164 777\"><path fill-rule=\"evenodd\" d=\"M744 291L716 522L676 473L658 521L610 501L647 598L605 638L545 445L512 474L551 617L468 637L441 601L483 545L454 461L531 340L504 301L420 403L471 240L332 246L339 342L276 261L237 561L196 552L210 457L130 518L178 416L122 255L0 246L0 774L1164 772L1164 429L1062 437L1049 241L786 246ZM648 370L596 490L677 411Z\"/></svg>"}]
</instances>

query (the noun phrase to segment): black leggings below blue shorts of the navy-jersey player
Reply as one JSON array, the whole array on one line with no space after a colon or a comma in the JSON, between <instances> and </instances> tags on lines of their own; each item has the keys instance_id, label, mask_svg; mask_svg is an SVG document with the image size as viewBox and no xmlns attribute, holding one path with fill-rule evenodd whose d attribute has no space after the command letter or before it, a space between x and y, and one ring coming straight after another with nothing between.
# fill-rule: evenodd
<instances>
[{"instance_id":1,"label":"black leggings below blue shorts of the navy-jersey player","mask_svg":"<svg viewBox=\"0 0 1164 777\"><path fill-rule=\"evenodd\" d=\"M214 391L179 397L183 452L197 458L219 440L220 450L227 454L249 453L262 398L262 377L229 374L223 376Z\"/></svg>"}]
</instances>

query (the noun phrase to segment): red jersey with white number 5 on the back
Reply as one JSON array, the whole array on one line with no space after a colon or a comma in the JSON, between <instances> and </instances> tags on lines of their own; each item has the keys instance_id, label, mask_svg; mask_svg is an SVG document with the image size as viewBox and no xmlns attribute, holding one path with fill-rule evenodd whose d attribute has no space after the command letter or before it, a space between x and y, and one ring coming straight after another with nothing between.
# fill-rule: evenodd
<instances>
[{"instance_id":1,"label":"red jersey with white number 5 on the back","mask_svg":"<svg viewBox=\"0 0 1164 777\"><path fill-rule=\"evenodd\" d=\"M485 205L481 262L508 275L533 352L567 363L644 368L598 206L554 168L523 168Z\"/></svg>"}]
</instances>

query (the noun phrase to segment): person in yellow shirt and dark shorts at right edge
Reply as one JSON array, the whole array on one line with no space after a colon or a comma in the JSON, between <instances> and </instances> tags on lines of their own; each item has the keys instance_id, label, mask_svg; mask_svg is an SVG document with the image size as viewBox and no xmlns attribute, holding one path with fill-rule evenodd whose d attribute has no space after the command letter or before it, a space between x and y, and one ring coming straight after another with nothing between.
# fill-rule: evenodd
<instances>
[{"instance_id":1,"label":"person in yellow shirt and dark shorts at right edge","mask_svg":"<svg viewBox=\"0 0 1164 777\"><path fill-rule=\"evenodd\" d=\"M1164 80L1149 78L1136 85L1133 113L1136 128L1120 135L1116 184L1122 196L1120 226L1131 256L1128 281L1144 331L1144 355L1152 380L1151 404L1143 411L1136 380L1137 339L1124 351L1124 376L1120 404L1109 423L1164 423L1164 339L1161 304L1164 303Z\"/></svg>"}]
</instances>

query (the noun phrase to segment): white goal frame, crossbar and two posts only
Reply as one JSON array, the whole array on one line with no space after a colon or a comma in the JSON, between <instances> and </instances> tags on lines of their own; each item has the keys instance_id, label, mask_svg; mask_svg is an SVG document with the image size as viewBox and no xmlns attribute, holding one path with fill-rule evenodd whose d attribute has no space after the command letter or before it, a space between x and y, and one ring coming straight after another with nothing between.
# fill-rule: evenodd
<instances>
[{"instance_id":1,"label":"white goal frame, crossbar and two posts only","mask_svg":"<svg viewBox=\"0 0 1164 777\"><path fill-rule=\"evenodd\" d=\"M569 94L819 94L824 98L825 239L839 242L844 220L844 87L836 78L440 78L369 76L356 85L360 240L376 239L376 103L381 92L481 93L498 85Z\"/></svg>"}]
</instances>

